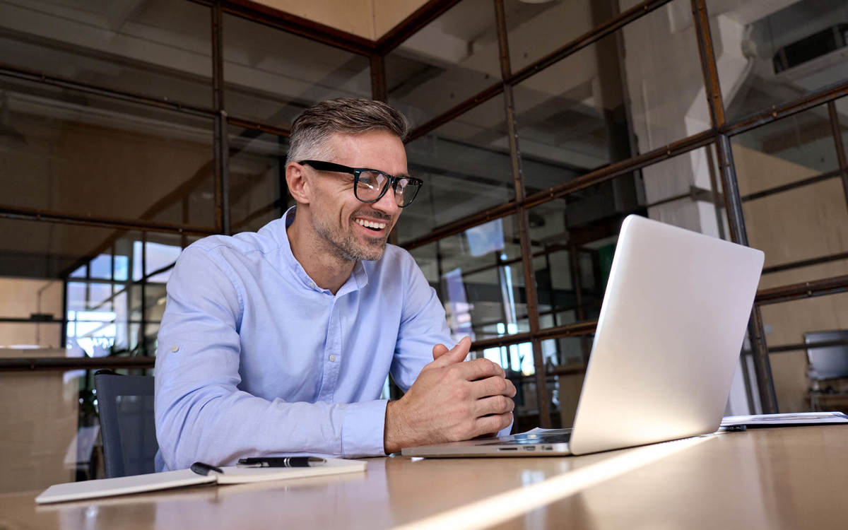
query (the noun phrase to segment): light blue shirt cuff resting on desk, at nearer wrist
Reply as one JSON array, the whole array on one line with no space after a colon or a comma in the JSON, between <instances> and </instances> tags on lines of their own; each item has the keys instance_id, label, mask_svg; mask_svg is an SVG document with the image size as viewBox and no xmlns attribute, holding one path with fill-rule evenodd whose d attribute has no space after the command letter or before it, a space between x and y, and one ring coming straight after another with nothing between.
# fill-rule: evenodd
<instances>
[{"instance_id":1,"label":"light blue shirt cuff resting on desk, at nearer wrist","mask_svg":"<svg viewBox=\"0 0 848 530\"><path fill-rule=\"evenodd\" d=\"M342 423L342 455L385 456L383 432L386 429L387 399L361 401L344 405Z\"/></svg>"}]
</instances>

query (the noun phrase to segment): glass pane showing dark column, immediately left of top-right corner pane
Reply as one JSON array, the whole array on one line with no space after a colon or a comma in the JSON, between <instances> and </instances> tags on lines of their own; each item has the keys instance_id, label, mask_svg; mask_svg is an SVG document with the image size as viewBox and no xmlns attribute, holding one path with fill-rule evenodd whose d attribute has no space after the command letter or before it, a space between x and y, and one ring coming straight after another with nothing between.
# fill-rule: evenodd
<instances>
[{"instance_id":1,"label":"glass pane showing dark column, immediately left of top-right corner pane","mask_svg":"<svg viewBox=\"0 0 848 530\"><path fill-rule=\"evenodd\" d=\"M710 127L690 22L674 0L516 86L528 190Z\"/></svg>"}]
</instances>

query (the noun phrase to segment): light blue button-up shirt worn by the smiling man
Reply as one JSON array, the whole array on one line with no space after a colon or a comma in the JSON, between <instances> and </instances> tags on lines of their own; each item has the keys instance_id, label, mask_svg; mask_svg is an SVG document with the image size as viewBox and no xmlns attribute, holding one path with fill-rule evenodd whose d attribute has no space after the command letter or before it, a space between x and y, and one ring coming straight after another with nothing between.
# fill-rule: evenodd
<instances>
[{"instance_id":1,"label":"light blue button-up shirt worn by the smiling man","mask_svg":"<svg viewBox=\"0 0 848 530\"><path fill-rule=\"evenodd\" d=\"M289 209L259 232L186 248L168 281L156 354L157 471L239 457L384 455L389 371L410 388L451 346L444 308L388 245L335 295L294 259Z\"/></svg>"}]
</instances>

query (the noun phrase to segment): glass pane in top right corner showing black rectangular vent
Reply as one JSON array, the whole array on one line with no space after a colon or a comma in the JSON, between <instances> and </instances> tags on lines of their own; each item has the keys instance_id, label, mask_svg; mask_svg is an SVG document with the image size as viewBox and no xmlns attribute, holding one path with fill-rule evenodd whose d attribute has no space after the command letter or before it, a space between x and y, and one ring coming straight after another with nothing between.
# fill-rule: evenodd
<instances>
[{"instance_id":1,"label":"glass pane in top right corner showing black rectangular vent","mask_svg":"<svg viewBox=\"0 0 848 530\"><path fill-rule=\"evenodd\" d=\"M848 4L707 0L728 120L845 82Z\"/></svg>"}]
</instances>

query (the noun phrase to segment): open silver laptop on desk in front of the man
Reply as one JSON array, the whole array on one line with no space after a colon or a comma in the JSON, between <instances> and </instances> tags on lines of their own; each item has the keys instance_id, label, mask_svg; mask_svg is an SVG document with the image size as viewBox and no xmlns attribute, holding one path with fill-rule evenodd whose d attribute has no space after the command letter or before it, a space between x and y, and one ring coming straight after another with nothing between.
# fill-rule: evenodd
<instances>
[{"instance_id":1,"label":"open silver laptop on desk in front of the man","mask_svg":"<svg viewBox=\"0 0 848 530\"><path fill-rule=\"evenodd\" d=\"M629 215L573 427L410 447L402 455L585 455L715 432L763 258L754 248Z\"/></svg>"}]
</instances>

